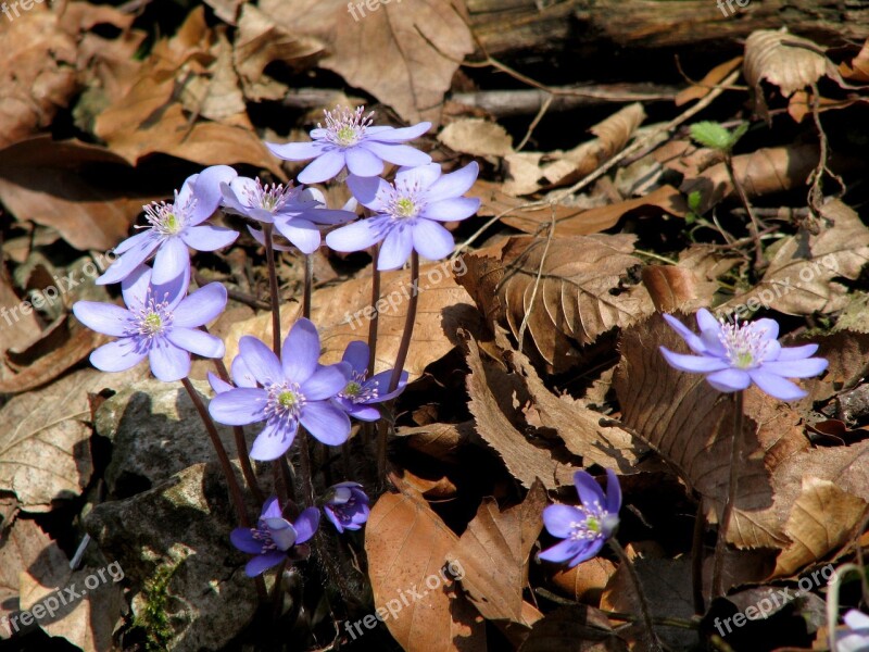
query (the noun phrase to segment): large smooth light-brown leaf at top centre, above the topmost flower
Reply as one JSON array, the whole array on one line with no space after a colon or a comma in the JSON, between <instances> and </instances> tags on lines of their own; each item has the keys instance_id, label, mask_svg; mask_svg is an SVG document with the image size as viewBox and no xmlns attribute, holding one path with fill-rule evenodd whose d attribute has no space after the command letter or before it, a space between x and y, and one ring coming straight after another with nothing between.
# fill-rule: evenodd
<instances>
[{"instance_id":1,"label":"large smooth light-brown leaf at top centre, above the topmost flower","mask_svg":"<svg viewBox=\"0 0 869 652\"><path fill-rule=\"evenodd\" d=\"M361 5L355 21L344 0L262 0L259 7L290 34L320 39L330 52L322 67L408 122L438 121L453 74L474 51L462 0Z\"/></svg>"}]
</instances>

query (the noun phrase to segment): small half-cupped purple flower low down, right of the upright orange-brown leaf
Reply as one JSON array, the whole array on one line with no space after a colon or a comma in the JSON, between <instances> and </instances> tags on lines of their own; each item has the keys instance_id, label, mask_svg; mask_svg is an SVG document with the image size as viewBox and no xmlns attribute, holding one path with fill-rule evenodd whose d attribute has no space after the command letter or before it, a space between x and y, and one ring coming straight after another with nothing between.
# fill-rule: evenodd
<instances>
[{"instance_id":1,"label":"small half-cupped purple flower low down, right of the upright orange-brown leaf","mask_svg":"<svg viewBox=\"0 0 869 652\"><path fill-rule=\"evenodd\" d=\"M543 510L546 530L564 541L538 555L541 560L567 563L570 567L601 551L618 527L618 511L621 509L621 487L612 469L606 469L606 494L584 471L574 474L574 484L582 504L578 507L556 504Z\"/></svg>"}]
</instances>

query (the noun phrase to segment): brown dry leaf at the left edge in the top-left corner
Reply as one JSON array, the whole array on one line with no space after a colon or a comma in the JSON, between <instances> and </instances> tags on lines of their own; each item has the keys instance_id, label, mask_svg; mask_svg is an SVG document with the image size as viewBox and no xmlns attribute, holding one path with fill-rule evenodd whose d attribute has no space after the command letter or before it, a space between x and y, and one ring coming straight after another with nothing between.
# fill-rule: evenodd
<instances>
[{"instance_id":1,"label":"brown dry leaf at the left edge in the top-left corner","mask_svg":"<svg viewBox=\"0 0 869 652\"><path fill-rule=\"evenodd\" d=\"M0 147L5 148L48 127L76 92L76 45L48 4L37 4L0 22Z\"/></svg>"}]
</instances>

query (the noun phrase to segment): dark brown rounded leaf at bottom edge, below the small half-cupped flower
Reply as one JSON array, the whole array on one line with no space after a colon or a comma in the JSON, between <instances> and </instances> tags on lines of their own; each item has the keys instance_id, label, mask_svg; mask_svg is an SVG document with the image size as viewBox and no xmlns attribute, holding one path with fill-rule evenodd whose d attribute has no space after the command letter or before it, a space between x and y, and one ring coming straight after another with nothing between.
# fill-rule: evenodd
<instances>
[{"instance_id":1,"label":"dark brown rounded leaf at bottom edge, below the small half-cupped flower","mask_svg":"<svg viewBox=\"0 0 869 652\"><path fill-rule=\"evenodd\" d=\"M518 652L628 652L607 617L585 605L563 606L537 623Z\"/></svg>"}]
</instances>

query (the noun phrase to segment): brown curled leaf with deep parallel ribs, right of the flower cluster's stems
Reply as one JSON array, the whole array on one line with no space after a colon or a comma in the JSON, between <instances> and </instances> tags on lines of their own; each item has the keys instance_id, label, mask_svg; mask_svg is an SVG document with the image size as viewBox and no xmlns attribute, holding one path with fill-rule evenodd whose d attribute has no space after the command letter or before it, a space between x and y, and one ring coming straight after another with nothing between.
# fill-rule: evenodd
<instances>
[{"instance_id":1,"label":"brown curled leaf with deep parallel ribs, right of the flower cluster's stems","mask_svg":"<svg viewBox=\"0 0 869 652\"><path fill-rule=\"evenodd\" d=\"M496 321L531 344L553 373L571 368L579 347L651 314L648 292L628 283L641 264L631 255L634 236L596 235L512 238L501 261L465 256L468 273L458 280L487 319ZM539 276L539 280L538 280Z\"/></svg>"}]
</instances>

